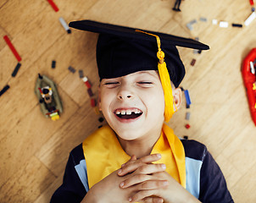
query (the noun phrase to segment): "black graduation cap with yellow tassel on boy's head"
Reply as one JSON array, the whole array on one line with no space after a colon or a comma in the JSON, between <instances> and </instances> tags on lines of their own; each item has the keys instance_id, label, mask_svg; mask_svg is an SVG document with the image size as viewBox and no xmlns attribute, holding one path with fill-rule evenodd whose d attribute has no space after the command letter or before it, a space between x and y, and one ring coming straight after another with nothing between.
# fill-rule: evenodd
<instances>
[{"instance_id":1,"label":"black graduation cap with yellow tassel on boy's head","mask_svg":"<svg viewBox=\"0 0 256 203\"><path fill-rule=\"evenodd\" d=\"M158 70L164 90L165 120L173 114L170 80L178 87L185 75L176 46L207 50L199 41L92 20L70 22L70 27L99 33L97 67L100 79L117 78L142 70ZM169 114L169 115L165 115Z\"/></svg>"}]
</instances>

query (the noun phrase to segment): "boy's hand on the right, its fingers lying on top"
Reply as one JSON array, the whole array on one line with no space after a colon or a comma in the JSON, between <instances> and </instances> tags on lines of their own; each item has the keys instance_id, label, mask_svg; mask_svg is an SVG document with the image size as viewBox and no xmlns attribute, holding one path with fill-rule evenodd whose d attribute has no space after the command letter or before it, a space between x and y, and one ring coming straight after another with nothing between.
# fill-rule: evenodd
<instances>
[{"instance_id":1,"label":"boy's hand on the right, its fingers lying on top","mask_svg":"<svg viewBox=\"0 0 256 203\"><path fill-rule=\"evenodd\" d=\"M144 156L139 160L134 160L133 157L125 165L122 165L119 175L124 176L133 172L125 181L120 183L120 186L124 189L136 187L136 194L130 197L132 202L147 200L147 197L152 195L161 197L164 203L200 202L184 189L181 184L177 183L169 173L166 173L165 169L161 170L160 167L163 165L152 164L151 162L157 161L155 159L157 159L156 155Z\"/></svg>"}]
</instances>

